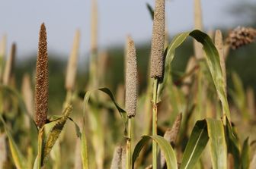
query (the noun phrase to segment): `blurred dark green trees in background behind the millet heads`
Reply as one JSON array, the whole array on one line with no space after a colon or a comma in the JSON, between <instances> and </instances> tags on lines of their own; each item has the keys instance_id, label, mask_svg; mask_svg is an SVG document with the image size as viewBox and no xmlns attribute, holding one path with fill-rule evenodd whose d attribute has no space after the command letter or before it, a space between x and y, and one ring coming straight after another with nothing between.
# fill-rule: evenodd
<instances>
[{"instance_id":1,"label":"blurred dark green trees in background behind the millet heads","mask_svg":"<svg viewBox=\"0 0 256 169\"><path fill-rule=\"evenodd\" d=\"M146 8L146 7L145 7ZM256 27L256 4L253 2L238 2L236 5L227 9L227 12L235 18L236 26L241 25L245 27ZM221 26L220 26L221 27ZM221 27L224 39L228 35L229 30L234 27ZM205 30L206 31L206 30ZM171 42L172 36L168 38ZM136 52L138 56L139 67L139 91L142 92L147 83L147 70L149 64L150 54L150 37L147 41L137 44ZM123 83L123 58L124 58L124 44L112 45L107 49L107 72L105 72L106 84L111 91L116 92L117 86ZM172 61L173 78L174 81L184 74L187 61L190 58L190 54L193 53L192 39L184 42L184 45L177 50L177 55L183 57L176 57ZM82 62L79 63L77 86L78 90L85 90L85 84L88 81L88 58L89 54L80 54ZM26 59L17 61L15 64L15 76L17 79L17 86L20 87L22 76L24 73L34 74L36 65L37 52L27 56ZM50 113L57 108L61 108L62 102L65 99L65 74L66 63L68 55L59 55L58 53L49 52L49 72L50 72ZM101 60L101 52L99 52L99 59ZM256 43L246 45L238 50L231 50L226 60L227 70L227 83L228 88L232 89L232 72L236 72L242 79L245 89L251 86L256 91ZM33 76L34 77L34 76ZM101 84L100 84L101 85ZM77 92L79 92L77 91ZM254 93L255 95L255 93ZM56 106L57 105L57 106ZM54 108L53 108L54 107Z\"/></svg>"}]
</instances>

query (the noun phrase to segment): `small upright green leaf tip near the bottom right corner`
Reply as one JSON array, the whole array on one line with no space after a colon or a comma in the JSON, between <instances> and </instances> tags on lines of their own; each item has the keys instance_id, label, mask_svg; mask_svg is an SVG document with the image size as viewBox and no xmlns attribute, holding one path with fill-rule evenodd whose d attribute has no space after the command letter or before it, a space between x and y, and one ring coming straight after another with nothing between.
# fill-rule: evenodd
<instances>
[{"instance_id":1,"label":"small upright green leaf tip near the bottom right corner","mask_svg":"<svg viewBox=\"0 0 256 169\"><path fill-rule=\"evenodd\" d=\"M250 153L249 153L249 142L248 142L248 137L245 139L245 142L242 147L242 169L248 169L250 165Z\"/></svg>"}]
</instances>

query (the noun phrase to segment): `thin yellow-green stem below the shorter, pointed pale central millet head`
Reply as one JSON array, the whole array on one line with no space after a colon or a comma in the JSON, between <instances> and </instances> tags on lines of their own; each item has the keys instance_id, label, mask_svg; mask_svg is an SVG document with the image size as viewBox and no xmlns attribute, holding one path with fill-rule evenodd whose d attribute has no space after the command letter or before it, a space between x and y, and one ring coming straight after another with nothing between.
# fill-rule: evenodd
<instances>
[{"instance_id":1,"label":"thin yellow-green stem below the shorter, pointed pale central millet head","mask_svg":"<svg viewBox=\"0 0 256 169\"><path fill-rule=\"evenodd\" d=\"M132 117L128 118L128 138L126 141L126 169L131 169L131 162L132 162L132 144L131 144L131 138L132 138Z\"/></svg>"}]
</instances>

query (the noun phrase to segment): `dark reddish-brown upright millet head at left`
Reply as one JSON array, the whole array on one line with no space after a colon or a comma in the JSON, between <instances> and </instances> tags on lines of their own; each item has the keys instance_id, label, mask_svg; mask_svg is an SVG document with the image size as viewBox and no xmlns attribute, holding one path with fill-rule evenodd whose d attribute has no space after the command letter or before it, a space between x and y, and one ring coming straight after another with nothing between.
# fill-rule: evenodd
<instances>
[{"instance_id":1,"label":"dark reddish-brown upright millet head at left","mask_svg":"<svg viewBox=\"0 0 256 169\"><path fill-rule=\"evenodd\" d=\"M35 89L35 121L37 127L43 127L46 123L48 111L48 56L46 42L46 27L42 23L39 33L37 53L37 73Z\"/></svg>"}]
</instances>

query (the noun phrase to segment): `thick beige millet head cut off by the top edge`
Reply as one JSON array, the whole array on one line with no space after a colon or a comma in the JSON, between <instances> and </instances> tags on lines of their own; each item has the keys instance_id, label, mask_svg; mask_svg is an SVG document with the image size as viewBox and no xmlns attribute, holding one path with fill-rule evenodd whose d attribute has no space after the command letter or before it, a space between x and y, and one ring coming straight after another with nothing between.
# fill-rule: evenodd
<instances>
[{"instance_id":1,"label":"thick beige millet head cut off by the top edge","mask_svg":"<svg viewBox=\"0 0 256 169\"><path fill-rule=\"evenodd\" d=\"M162 78L165 47L165 0L156 0L150 58L150 77Z\"/></svg>"}]
</instances>

